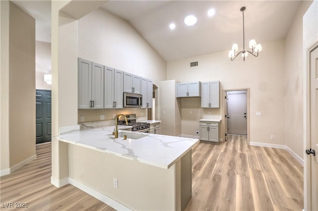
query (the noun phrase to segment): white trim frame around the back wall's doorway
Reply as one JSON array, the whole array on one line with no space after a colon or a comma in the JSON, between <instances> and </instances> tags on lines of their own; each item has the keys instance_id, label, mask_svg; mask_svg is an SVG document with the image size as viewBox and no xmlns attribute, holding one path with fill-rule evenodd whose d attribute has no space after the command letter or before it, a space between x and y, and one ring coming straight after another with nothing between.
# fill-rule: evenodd
<instances>
[{"instance_id":1,"label":"white trim frame around the back wall's doorway","mask_svg":"<svg viewBox=\"0 0 318 211\"><path fill-rule=\"evenodd\" d=\"M246 136L246 141L247 141L247 145L249 145L250 142L250 136L249 136L249 116L250 116L250 112L249 112L249 88L238 88L238 89L225 89L223 90L224 92L224 110L223 110L223 117L224 117L224 122L223 122L223 131L225 131L225 133L223 134L224 139L223 140L227 140L227 134L228 134L228 125L227 125L227 120L225 115L227 114L227 102L226 102L226 93L228 91L242 91L242 90L246 90L246 112L247 112L247 136Z\"/></svg>"}]
</instances>

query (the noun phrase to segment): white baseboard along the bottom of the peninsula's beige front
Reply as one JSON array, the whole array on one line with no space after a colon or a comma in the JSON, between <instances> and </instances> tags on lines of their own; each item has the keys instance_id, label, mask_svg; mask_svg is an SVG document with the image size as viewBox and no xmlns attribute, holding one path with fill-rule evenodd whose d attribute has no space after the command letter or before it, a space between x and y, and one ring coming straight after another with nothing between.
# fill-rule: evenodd
<instances>
[{"instance_id":1,"label":"white baseboard along the bottom of the peninsula's beige front","mask_svg":"<svg viewBox=\"0 0 318 211\"><path fill-rule=\"evenodd\" d=\"M102 201L103 203L107 204L108 206L112 207L115 210L118 211L131 211L130 208L124 206L123 204L117 202L116 200L106 196L103 193L100 193L99 191L96 191L95 189L79 182L78 180L75 180L71 177L69 177L69 182L71 185L79 188L80 190L84 191L85 193L91 195L92 197L98 199L99 201Z\"/></svg>"}]
</instances>

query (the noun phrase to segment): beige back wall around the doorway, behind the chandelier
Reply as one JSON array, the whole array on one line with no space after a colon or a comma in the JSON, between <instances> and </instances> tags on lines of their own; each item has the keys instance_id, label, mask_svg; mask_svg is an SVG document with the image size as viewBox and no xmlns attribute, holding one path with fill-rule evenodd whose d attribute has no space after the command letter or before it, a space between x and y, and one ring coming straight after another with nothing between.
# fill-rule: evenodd
<instances>
[{"instance_id":1,"label":"beige back wall around the doorway, behind the chandelier","mask_svg":"<svg viewBox=\"0 0 318 211\"><path fill-rule=\"evenodd\" d=\"M169 61L167 79L219 80L221 90L250 88L250 141L285 145L285 40L262 43L262 47L258 57L248 56L245 61L241 57L231 61L228 51ZM199 65L190 67L192 61ZM209 111L223 114L223 95L221 91L220 108L201 108L199 98L182 99L182 134L195 135L199 119ZM256 116L256 111L261 111L261 116ZM270 140L271 135L275 140Z\"/></svg>"}]
</instances>

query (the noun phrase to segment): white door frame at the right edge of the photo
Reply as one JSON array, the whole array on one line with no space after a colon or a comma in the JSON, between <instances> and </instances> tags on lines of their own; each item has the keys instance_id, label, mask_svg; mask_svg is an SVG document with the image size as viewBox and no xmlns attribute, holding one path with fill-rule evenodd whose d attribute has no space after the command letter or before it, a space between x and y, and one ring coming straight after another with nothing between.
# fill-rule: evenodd
<instances>
[{"instance_id":1,"label":"white door frame at the right edge of the photo","mask_svg":"<svg viewBox=\"0 0 318 211\"><path fill-rule=\"evenodd\" d=\"M317 187L311 184L311 158L313 156L306 155L306 149L311 148L311 87L310 87L310 52L318 47L318 41L313 43L306 50L305 69L305 85L304 85L304 210L312 210L312 192L318 192ZM316 155L318 156L318 155Z\"/></svg>"}]
</instances>

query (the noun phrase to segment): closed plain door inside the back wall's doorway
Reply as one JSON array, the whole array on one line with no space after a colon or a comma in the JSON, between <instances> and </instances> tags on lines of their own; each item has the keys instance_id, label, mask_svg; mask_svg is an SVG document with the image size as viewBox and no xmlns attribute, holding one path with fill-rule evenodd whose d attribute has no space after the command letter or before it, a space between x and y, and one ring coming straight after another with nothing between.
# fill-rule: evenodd
<instances>
[{"instance_id":1,"label":"closed plain door inside the back wall's doorway","mask_svg":"<svg viewBox=\"0 0 318 211\"><path fill-rule=\"evenodd\" d=\"M247 135L247 91L227 91L228 133Z\"/></svg>"}]
</instances>

